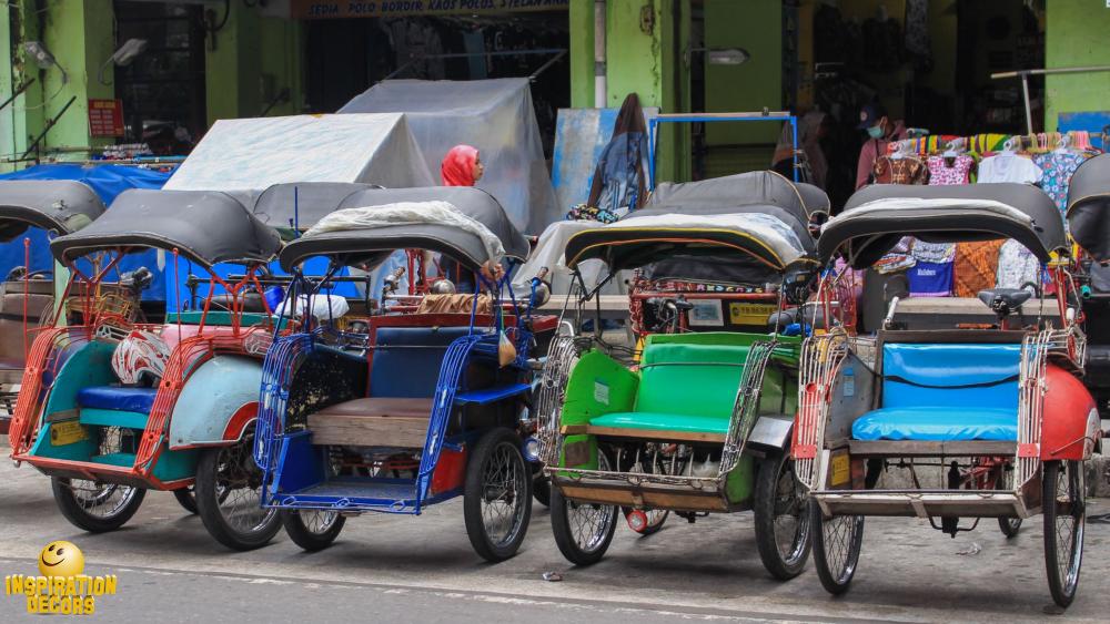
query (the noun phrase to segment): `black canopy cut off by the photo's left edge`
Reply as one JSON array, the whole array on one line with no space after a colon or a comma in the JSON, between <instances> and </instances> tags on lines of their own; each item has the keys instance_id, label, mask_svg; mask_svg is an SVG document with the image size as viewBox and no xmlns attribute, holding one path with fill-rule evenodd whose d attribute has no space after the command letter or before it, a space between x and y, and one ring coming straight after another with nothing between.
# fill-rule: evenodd
<instances>
[{"instance_id":1,"label":"black canopy cut off by the photo's left edge","mask_svg":"<svg viewBox=\"0 0 1110 624\"><path fill-rule=\"evenodd\" d=\"M69 234L104 214L104 204L88 185L74 180L0 182L0 242L41 227Z\"/></svg>"}]
</instances>

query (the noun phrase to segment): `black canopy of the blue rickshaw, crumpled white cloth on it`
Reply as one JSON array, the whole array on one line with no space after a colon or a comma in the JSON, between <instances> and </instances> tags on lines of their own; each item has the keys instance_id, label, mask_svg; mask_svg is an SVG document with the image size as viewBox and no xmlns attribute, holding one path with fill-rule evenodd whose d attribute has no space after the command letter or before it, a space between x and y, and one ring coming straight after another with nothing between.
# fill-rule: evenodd
<instances>
[{"instance_id":1,"label":"black canopy of the blue rickshaw, crumpled white cloth on it","mask_svg":"<svg viewBox=\"0 0 1110 624\"><path fill-rule=\"evenodd\" d=\"M504 208L485 191L472 186L430 186L423 188L367 188L349 195L344 208L382 207L398 203L446 202L496 236L505 255L517 260L528 257L528 239L516 229ZM282 249L282 268L313 256L331 256L346 265L376 266L396 249L417 248L447 254L466 268L476 269L490 262L482 238L472 232L428 219L372 228L355 228L309 234Z\"/></svg>"}]
</instances>

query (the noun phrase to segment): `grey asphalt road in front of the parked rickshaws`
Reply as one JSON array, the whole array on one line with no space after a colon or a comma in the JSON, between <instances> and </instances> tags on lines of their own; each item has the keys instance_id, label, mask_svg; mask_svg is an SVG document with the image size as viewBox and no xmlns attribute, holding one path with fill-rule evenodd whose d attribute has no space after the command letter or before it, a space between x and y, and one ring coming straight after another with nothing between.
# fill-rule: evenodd
<instances>
[{"instance_id":1,"label":"grey asphalt road in front of the parked rickshaws","mask_svg":"<svg viewBox=\"0 0 1110 624\"><path fill-rule=\"evenodd\" d=\"M1110 501L1092 503L1092 514L1107 512ZM1061 614L1045 580L1038 520L1007 541L988 521L953 540L918 520L869 519L852 590L834 599L811 565L787 583L767 575L750 513L694 525L672 519L648 538L620 526L606 559L588 569L562 557L538 504L521 553L497 565L472 552L458 501L420 518L351 519L319 553L303 553L283 534L235 553L163 492L150 493L124 529L87 534L58 513L47 478L0 463L0 574L34 574L43 545L72 541L84 551L87 573L119 577L119 593L97 603L95 617L111 621L1110 620L1110 524L1088 525L1079 596ZM547 571L563 581L545 581ZM21 597L0 594L0 622L32 617L42 621L26 614Z\"/></svg>"}]
</instances>

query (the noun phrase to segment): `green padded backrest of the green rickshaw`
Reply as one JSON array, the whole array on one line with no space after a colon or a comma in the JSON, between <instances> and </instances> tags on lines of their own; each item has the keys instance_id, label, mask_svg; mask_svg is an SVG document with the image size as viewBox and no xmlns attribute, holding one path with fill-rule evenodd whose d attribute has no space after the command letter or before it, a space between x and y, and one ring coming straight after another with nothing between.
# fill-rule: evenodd
<instances>
[{"instance_id":1,"label":"green padded backrest of the green rickshaw","mask_svg":"<svg viewBox=\"0 0 1110 624\"><path fill-rule=\"evenodd\" d=\"M749 349L649 341L640 360L636 411L731 418Z\"/></svg>"}]
</instances>

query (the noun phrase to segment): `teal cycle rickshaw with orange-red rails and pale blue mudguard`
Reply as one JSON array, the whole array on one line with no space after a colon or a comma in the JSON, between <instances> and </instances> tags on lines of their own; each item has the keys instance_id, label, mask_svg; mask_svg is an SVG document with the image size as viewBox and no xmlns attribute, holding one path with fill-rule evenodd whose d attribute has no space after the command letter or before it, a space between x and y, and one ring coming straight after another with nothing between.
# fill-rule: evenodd
<instances>
[{"instance_id":1,"label":"teal cycle rickshaw with orange-red rails and pale blue mudguard","mask_svg":"<svg viewBox=\"0 0 1110 624\"><path fill-rule=\"evenodd\" d=\"M185 263L209 273L201 309L163 324L138 323L119 306L85 304L74 315L67 305L36 337L11 457L51 477L74 525L115 530L148 490L169 490L230 548L261 546L278 531L276 513L259 507L261 472L250 459L272 321L243 307L279 247L238 201L199 191L127 191L91 225L51 242L72 274L63 298L77 303L125 255L148 248L167 253L175 282ZM224 279L219 263L242 264L245 275Z\"/></svg>"}]
</instances>

